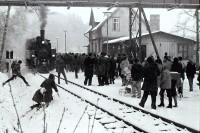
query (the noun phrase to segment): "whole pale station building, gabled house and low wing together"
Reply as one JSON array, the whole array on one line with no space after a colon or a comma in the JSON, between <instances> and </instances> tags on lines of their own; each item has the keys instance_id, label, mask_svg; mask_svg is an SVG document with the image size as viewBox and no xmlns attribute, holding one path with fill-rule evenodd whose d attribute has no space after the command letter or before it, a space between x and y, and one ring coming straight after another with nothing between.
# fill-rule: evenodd
<instances>
[{"instance_id":1,"label":"whole pale station building, gabled house and low wing together","mask_svg":"<svg viewBox=\"0 0 200 133\"><path fill-rule=\"evenodd\" d=\"M134 11L134 10L133 10ZM108 13L109 12L109 13ZM136 11L134 12L136 14ZM107 14L107 15L106 15ZM129 9L113 8L104 12L105 17L100 22L95 21L95 15L91 10L90 29L86 32L89 39L88 52L99 54L104 51L109 55L133 54L133 46L138 47L137 32L139 29L139 16L132 27L132 40L129 39ZM142 43L140 46L141 58L150 55L156 56L150 35L146 30L145 21L142 19ZM160 16L150 15L149 25L158 49L160 58L167 52L171 57L182 56L184 59L195 61L195 41L175 34L160 31Z\"/></svg>"}]
</instances>

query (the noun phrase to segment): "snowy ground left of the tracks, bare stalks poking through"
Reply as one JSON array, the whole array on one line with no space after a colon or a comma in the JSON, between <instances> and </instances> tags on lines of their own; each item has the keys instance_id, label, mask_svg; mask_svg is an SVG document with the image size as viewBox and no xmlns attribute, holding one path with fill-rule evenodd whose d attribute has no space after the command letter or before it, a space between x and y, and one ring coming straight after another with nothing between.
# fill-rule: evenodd
<instances>
[{"instance_id":1,"label":"snowy ground left of the tracks, bare stalks poking through","mask_svg":"<svg viewBox=\"0 0 200 133\"><path fill-rule=\"evenodd\" d=\"M7 79L5 75L0 75L2 81ZM15 98L16 106L19 112L20 121L24 133L41 133L43 131L43 111L32 111L25 117L22 115L29 110L30 105L33 104L32 96L34 92L39 88L43 78L33 76L32 74L26 75L30 81L31 86L26 87L21 79L16 79L11 82L13 95ZM60 97L54 94L54 101L46 109L47 115L47 132L56 133L59 121L65 107L63 122L61 124L60 133L72 133L75 126L80 119L87 104L68 93L60 91ZM12 105L12 100L9 93L9 86L5 85L0 89L0 132L3 133L8 129L9 133L15 133L14 127L17 129L17 117ZM88 132L88 115L83 116L75 133ZM91 129L91 125L89 127ZM108 131L99 123L95 123L93 131L95 133L108 133Z\"/></svg>"}]
</instances>

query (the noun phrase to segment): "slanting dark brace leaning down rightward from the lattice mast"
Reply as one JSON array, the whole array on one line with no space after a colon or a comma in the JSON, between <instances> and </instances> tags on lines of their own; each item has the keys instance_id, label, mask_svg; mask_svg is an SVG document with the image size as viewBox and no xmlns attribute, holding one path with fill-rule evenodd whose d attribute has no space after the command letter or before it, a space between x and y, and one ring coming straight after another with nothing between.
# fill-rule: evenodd
<instances>
[{"instance_id":1,"label":"slanting dark brace leaning down rightward from the lattice mast","mask_svg":"<svg viewBox=\"0 0 200 133\"><path fill-rule=\"evenodd\" d=\"M141 7L140 9L141 9L142 15L143 15L143 17L144 17L144 20L145 20L145 23L146 23L146 27L147 27L147 30L148 30L148 32L149 32L149 35L150 35L150 38L151 38L151 41L152 41L152 44L153 44L153 47L154 47L156 56L157 56L157 58L160 58L159 53L158 53L158 49L157 49L157 47L156 47L155 41L154 41L154 39L153 39L153 36L152 36L152 34L151 34L151 29L150 29L149 23L148 23L148 21L147 21L147 17L146 17L146 15L145 15L144 9L143 9L142 7Z\"/></svg>"}]
</instances>

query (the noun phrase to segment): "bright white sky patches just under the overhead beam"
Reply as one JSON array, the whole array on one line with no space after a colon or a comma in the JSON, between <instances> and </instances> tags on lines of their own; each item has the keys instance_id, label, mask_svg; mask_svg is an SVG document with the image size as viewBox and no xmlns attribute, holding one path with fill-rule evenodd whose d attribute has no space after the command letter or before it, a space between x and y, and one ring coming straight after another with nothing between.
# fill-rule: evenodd
<instances>
[{"instance_id":1,"label":"bright white sky patches just under the overhead beam","mask_svg":"<svg viewBox=\"0 0 200 133\"><path fill-rule=\"evenodd\" d=\"M94 10L94 16L95 19L101 20L103 17L102 11L104 11L106 8L93 8ZM90 17L90 11L91 8L89 7L71 7L69 10L65 7L51 7L50 10L52 12L60 12L63 14L67 13L74 13L79 15L83 22L88 24L89 17ZM180 12L183 12L183 9L173 9L168 11L167 9L145 9L145 13L149 19L150 14L160 14L160 28L163 31L170 32L173 30L174 26L180 19L178 14Z\"/></svg>"}]
</instances>

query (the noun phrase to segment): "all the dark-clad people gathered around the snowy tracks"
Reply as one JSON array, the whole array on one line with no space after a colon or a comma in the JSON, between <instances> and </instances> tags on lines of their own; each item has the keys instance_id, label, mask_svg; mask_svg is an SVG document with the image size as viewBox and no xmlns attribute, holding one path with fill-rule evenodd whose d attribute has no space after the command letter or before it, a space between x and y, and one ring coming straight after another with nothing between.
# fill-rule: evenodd
<instances>
[{"instance_id":1,"label":"all the dark-clad people gathered around the snowy tracks","mask_svg":"<svg viewBox=\"0 0 200 133\"><path fill-rule=\"evenodd\" d=\"M13 63L13 76L3 82L3 86L9 81L20 77L27 86L26 79L21 75L20 64L21 60ZM189 82L189 91L193 91L193 79L196 74L195 64L189 60L184 64L182 57L175 57L171 60L170 56L165 54L163 60L155 59L149 56L143 62L138 58L120 54L117 57L111 57L102 52L96 54L57 54L56 56L56 72L58 73L58 84L60 84L60 75L62 74L65 83L68 84L66 72L74 72L75 78L78 78L78 72L84 72L84 85L92 85L93 76L97 76L98 86L114 84L116 78L120 78L122 86L131 86L130 93L132 97L140 98L139 106L144 107L148 95L151 95L151 107L156 109L156 96L159 91L160 104L158 107L164 107L164 93L166 91L168 97L167 108L178 107L177 96L183 97L183 82L185 75ZM55 86L55 77L50 74L49 79L41 84L41 88L36 91L33 100L37 102L32 107L40 106L41 102L49 104L52 98L52 89L58 92ZM198 81L200 76L198 77ZM45 90L45 91L44 91ZM143 95L141 96L141 91ZM44 95L41 95L44 94ZM44 96L44 97L42 97ZM174 103L172 103L173 101Z\"/></svg>"}]
</instances>

